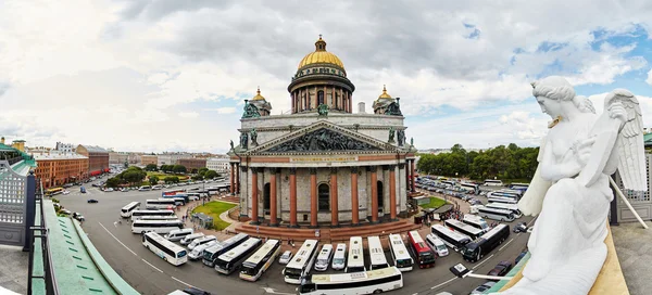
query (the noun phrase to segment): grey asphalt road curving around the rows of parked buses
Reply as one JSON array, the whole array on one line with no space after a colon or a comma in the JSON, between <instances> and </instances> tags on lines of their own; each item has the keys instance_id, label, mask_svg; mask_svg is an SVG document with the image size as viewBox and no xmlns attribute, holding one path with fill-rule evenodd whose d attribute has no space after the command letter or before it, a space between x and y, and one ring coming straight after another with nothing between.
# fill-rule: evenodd
<instances>
[{"instance_id":1,"label":"grey asphalt road curving around the rows of parked buses","mask_svg":"<svg viewBox=\"0 0 652 295\"><path fill-rule=\"evenodd\" d=\"M90 187L90 183L85 184L88 191L86 194L79 193L79 187L73 187L70 189L71 194L55 197L65 208L79 211L86 217L83 228L95 246L111 267L141 294L167 294L188 285L213 294L296 294L296 286L283 280L283 266L277 262L255 283L242 281L236 273L229 277L218 274L214 269L204 267L201 261L188 261L179 267L165 262L142 246L140 235L133 234L127 222L114 225L124 205L131 201L145 204L148 198L159 197L161 191L104 193ZM99 203L88 204L88 198L96 198ZM510 226L517 221L529 223L531 218L521 218ZM464 265L476 273L486 274L501 260L513 262L528 238L528 233L512 232L507 241L490 255L476 264ZM389 255L387 256L389 260ZM368 257L366 260L368 261ZM453 252L437 259L435 268L414 269L405 273L404 287L392 294L437 294L444 291L454 295L468 294L485 280L454 277L449 268L462 261L461 255Z\"/></svg>"}]
</instances>

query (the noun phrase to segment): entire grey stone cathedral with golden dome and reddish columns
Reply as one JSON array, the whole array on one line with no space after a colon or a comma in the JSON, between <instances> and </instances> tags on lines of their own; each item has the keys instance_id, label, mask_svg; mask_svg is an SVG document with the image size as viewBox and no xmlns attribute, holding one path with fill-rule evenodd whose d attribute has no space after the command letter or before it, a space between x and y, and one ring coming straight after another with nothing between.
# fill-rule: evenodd
<instances>
[{"instance_id":1,"label":"entire grey stone cathedral with golden dome and reddish columns","mask_svg":"<svg viewBox=\"0 0 652 295\"><path fill-rule=\"evenodd\" d=\"M405 140L399 98L353 114L355 87L319 37L288 86L291 113L244 101L239 144L228 153L231 193L253 225L356 226L397 220L414 192L416 149Z\"/></svg>"}]
</instances>

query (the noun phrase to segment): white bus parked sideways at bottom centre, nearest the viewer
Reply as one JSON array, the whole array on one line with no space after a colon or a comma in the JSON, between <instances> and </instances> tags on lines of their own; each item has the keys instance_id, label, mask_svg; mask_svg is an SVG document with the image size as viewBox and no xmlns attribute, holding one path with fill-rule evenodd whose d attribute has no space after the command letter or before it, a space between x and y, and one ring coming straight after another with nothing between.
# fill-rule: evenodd
<instances>
[{"instance_id":1,"label":"white bus parked sideways at bottom centre, nearest the viewer","mask_svg":"<svg viewBox=\"0 0 652 295\"><path fill-rule=\"evenodd\" d=\"M396 267L354 273L312 274L301 281L299 294L378 294L403 287L403 274Z\"/></svg>"}]
</instances>

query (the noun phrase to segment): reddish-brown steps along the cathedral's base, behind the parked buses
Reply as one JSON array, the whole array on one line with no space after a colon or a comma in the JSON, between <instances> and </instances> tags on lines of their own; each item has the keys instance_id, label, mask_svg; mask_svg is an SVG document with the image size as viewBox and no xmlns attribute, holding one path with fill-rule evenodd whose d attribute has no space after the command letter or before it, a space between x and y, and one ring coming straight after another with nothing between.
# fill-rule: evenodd
<instances>
[{"instance_id":1,"label":"reddish-brown steps along the cathedral's base, behind the parked buses","mask_svg":"<svg viewBox=\"0 0 652 295\"><path fill-rule=\"evenodd\" d=\"M243 232L252 236L267 236L271 239L303 241L308 239L317 239L322 241L347 241L350 236L369 236L369 235L388 235L390 233L401 233L418 229L418 225L409 222L408 220L399 220L393 222L384 222L378 225L363 225L359 227L346 228L319 228L319 236L315 238L315 229L298 228L291 229L285 226L268 227L253 226L241 223L236 228L237 232Z\"/></svg>"}]
</instances>

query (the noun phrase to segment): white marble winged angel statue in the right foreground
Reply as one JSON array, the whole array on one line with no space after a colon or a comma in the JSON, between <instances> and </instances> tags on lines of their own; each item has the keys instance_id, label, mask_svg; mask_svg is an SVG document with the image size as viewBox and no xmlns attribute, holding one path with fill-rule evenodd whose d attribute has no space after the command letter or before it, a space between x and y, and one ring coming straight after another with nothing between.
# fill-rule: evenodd
<instances>
[{"instance_id":1,"label":"white marble winged angel statue in the right foreground","mask_svg":"<svg viewBox=\"0 0 652 295\"><path fill-rule=\"evenodd\" d=\"M611 175L617 169L627 190L648 190L641 110L624 89L609 93L597 115L562 77L532 87L541 111L553 118L518 202L521 211L538 219L523 278L500 294L588 294L606 258Z\"/></svg>"}]
</instances>

